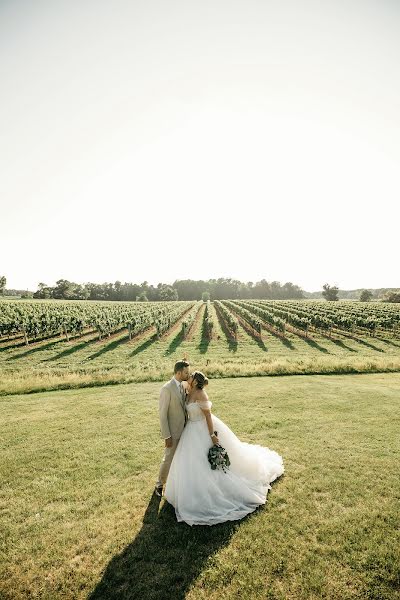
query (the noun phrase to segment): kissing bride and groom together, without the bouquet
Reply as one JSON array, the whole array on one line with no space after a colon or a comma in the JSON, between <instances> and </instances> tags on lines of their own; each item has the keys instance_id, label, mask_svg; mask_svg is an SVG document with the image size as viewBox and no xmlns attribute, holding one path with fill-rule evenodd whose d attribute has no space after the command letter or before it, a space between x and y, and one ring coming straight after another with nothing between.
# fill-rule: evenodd
<instances>
[{"instance_id":1,"label":"kissing bride and groom together, without the bouquet","mask_svg":"<svg viewBox=\"0 0 400 600\"><path fill-rule=\"evenodd\" d=\"M175 363L174 376L161 388L165 448L155 493L188 525L236 521L266 503L270 483L284 472L283 459L275 450L241 442L212 414L208 379L189 368L185 360ZM213 445L227 451L228 470L211 469L208 452Z\"/></svg>"}]
</instances>

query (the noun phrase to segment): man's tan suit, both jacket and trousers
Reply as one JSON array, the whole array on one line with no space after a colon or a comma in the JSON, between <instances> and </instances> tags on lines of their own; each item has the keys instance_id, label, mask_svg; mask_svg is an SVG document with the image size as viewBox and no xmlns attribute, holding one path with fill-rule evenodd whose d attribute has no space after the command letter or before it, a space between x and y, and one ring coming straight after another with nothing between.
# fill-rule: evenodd
<instances>
[{"instance_id":1,"label":"man's tan suit, both jacket and trousers","mask_svg":"<svg viewBox=\"0 0 400 600\"><path fill-rule=\"evenodd\" d=\"M176 447L186 423L185 392L179 390L179 381L173 377L164 384L160 392L161 437L172 438L171 448L164 448L157 486L165 485Z\"/></svg>"}]
</instances>

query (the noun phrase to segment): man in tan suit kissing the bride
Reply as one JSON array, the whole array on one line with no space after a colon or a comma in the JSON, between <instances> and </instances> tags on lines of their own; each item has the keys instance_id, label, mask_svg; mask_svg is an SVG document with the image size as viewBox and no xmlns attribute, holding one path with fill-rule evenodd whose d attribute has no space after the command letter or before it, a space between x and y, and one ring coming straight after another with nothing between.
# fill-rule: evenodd
<instances>
[{"instance_id":1,"label":"man in tan suit kissing the bride","mask_svg":"<svg viewBox=\"0 0 400 600\"><path fill-rule=\"evenodd\" d=\"M160 465L158 481L155 487L157 496L162 496L163 485L168 477L169 468L176 447L186 423L185 389L182 381L189 379L189 363L180 360L175 363L173 378L161 388L159 410L161 436L165 440L164 456Z\"/></svg>"}]
</instances>

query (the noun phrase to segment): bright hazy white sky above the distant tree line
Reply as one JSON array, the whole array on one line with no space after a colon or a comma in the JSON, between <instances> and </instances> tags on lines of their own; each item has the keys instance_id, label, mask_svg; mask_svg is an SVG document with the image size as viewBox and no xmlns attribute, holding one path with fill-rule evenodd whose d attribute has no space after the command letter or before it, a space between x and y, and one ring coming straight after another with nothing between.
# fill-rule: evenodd
<instances>
[{"instance_id":1,"label":"bright hazy white sky above the distant tree line","mask_svg":"<svg viewBox=\"0 0 400 600\"><path fill-rule=\"evenodd\" d=\"M397 0L0 0L9 288L399 286Z\"/></svg>"}]
</instances>

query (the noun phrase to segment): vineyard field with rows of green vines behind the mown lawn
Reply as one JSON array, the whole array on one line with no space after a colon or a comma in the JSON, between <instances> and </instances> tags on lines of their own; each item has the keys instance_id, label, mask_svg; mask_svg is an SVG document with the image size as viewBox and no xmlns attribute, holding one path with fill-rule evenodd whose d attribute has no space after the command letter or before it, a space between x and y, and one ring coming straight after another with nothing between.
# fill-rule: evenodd
<instances>
[{"instance_id":1,"label":"vineyard field with rows of green vines behind the mown lawn","mask_svg":"<svg viewBox=\"0 0 400 600\"><path fill-rule=\"evenodd\" d=\"M297 321L292 313L287 317L296 327L278 316L282 309L288 310L289 302L272 303L276 314L269 321L265 310L263 318L256 313L260 309L256 304L247 304L245 317L237 306L233 331L218 303L3 301L0 394L161 381L170 377L173 363L182 357L216 378L400 371L399 307L341 301L331 308L328 304L333 303L298 302ZM271 303L266 306L271 309ZM232 311L228 303L226 308ZM6 309L21 314L7 320ZM40 318L35 310L42 311ZM329 315L332 310L337 311L339 325ZM378 310L390 313L390 319L378 319L374 313ZM84 311L95 315L85 322ZM140 319L134 311L141 311ZM318 317L316 325L311 319L308 324L301 311L308 311L313 319L321 311L325 316ZM171 314L173 318L168 317Z\"/></svg>"}]
</instances>

